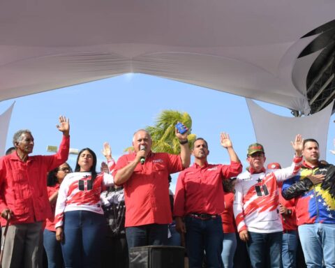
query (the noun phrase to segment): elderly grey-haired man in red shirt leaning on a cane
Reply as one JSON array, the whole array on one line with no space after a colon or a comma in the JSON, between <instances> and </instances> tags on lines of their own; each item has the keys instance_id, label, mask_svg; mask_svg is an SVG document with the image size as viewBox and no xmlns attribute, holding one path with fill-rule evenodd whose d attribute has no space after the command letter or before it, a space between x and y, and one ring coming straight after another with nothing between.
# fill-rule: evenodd
<instances>
[{"instance_id":1,"label":"elderly grey-haired man in red shirt leaning on a cane","mask_svg":"<svg viewBox=\"0 0 335 268\"><path fill-rule=\"evenodd\" d=\"M3 248L3 268L42 267L43 222L51 216L47 197L47 172L68 159L70 125L59 117L63 140L57 154L29 156L34 149L34 137L29 130L13 136L15 151L0 159L1 225L10 225Z\"/></svg>"}]
</instances>

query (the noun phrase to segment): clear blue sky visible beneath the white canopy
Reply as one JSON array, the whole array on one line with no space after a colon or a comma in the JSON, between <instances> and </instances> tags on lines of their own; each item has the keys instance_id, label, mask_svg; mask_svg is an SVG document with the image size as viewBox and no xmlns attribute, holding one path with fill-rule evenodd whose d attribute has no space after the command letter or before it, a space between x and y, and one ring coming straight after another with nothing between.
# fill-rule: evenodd
<instances>
[{"instance_id":1,"label":"clear blue sky visible beneath the white canopy","mask_svg":"<svg viewBox=\"0 0 335 268\"><path fill-rule=\"evenodd\" d=\"M230 133L241 161L245 161L248 144L255 142L245 98L150 75L126 74L2 101L0 112L8 109L13 101L16 103L6 147L12 146L15 131L28 128L35 138L34 154L48 154L48 144L59 145L61 133L55 126L60 114L70 118L70 147L90 147L96 151L99 162L103 161L103 142L110 142L113 157L118 158L124 148L131 146L133 133L153 125L162 110L179 110L191 115L192 133L208 141L211 163L229 161L219 142L222 131ZM271 112L292 117L286 108L260 104ZM334 163L335 157L329 153L334 147L334 119L333 115L327 143L330 163ZM75 158L72 155L69 158L72 167Z\"/></svg>"}]
</instances>

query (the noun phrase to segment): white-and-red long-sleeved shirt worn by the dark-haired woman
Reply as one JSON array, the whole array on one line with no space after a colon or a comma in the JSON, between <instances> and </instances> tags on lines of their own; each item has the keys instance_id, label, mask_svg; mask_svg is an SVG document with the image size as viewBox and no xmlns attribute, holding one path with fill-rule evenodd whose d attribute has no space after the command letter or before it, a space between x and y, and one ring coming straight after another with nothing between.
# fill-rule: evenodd
<instances>
[{"instance_id":1,"label":"white-and-red long-sleeved shirt worn by the dark-haired woman","mask_svg":"<svg viewBox=\"0 0 335 268\"><path fill-rule=\"evenodd\" d=\"M115 162L109 161L110 170ZM100 173L96 175L94 183L91 183L91 172L73 172L67 174L59 188L56 211L55 228L63 225L64 212L86 210L103 214L100 194L103 186L114 184L111 174Z\"/></svg>"}]
</instances>

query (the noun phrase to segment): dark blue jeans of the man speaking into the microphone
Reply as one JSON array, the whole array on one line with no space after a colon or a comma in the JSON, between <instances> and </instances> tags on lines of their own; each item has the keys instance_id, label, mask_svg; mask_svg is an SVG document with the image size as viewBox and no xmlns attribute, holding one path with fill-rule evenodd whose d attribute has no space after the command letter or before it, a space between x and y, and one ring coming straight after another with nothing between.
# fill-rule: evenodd
<instances>
[{"instance_id":1,"label":"dark blue jeans of the man speaking into the microphone","mask_svg":"<svg viewBox=\"0 0 335 268\"><path fill-rule=\"evenodd\" d=\"M168 243L167 224L147 224L126 228L128 248L135 246L166 245Z\"/></svg>"}]
</instances>

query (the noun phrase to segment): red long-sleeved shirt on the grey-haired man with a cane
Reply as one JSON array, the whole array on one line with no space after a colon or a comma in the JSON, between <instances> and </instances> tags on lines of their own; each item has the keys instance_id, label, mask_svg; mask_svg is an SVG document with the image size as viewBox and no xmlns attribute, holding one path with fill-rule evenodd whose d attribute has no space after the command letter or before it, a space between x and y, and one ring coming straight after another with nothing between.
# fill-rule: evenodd
<instances>
[{"instance_id":1,"label":"red long-sleeved shirt on the grey-haired man with a cane","mask_svg":"<svg viewBox=\"0 0 335 268\"><path fill-rule=\"evenodd\" d=\"M10 209L10 225L45 221L51 216L47 197L47 172L68 159L70 137L63 136L59 151L52 156L28 156L23 162L16 151L0 158L0 213ZM1 217L1 225L6 220Z\"/></svg>"}]
</instances>

